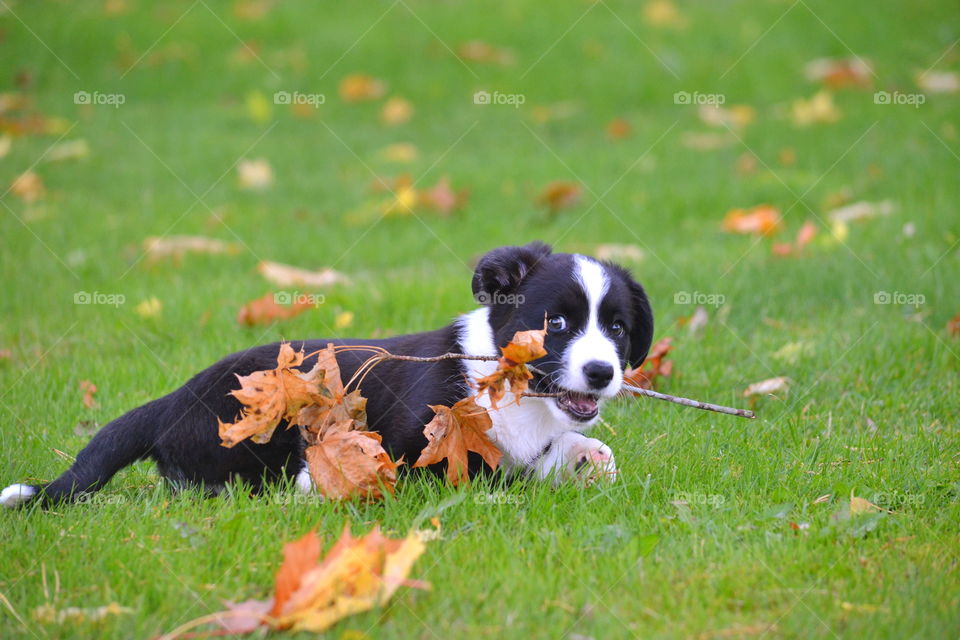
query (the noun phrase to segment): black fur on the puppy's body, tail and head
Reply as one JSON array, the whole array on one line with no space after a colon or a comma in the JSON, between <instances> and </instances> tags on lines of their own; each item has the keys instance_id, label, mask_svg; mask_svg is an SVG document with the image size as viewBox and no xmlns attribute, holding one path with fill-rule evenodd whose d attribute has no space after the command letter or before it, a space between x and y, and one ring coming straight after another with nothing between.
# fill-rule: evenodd
<instances>
[{"instance_id":1,"label":"black fur on the puppy's body, tail and head","mask_svg":"<svg viewBox=\"0 0 960 640\"><path fill-rule=\"evenodd\" d=\"M496 345L506 345L515 331L541 328L545 310L563 312L574 324L583 320L578 318L585 313L583 292L576 290L569 277L573 262L573 256L552 254L541 243L503 247L481 259L472 287L478 299L494 296L489 306ZM624 316L628 331L617 339L618 352L627 356L624 360L640 363L653 336L650 305L642 287L625 270L614 265L605 267L616 278L611 282L611 295L605 299L612 301L610 308L601 306L600 316ZM498 302L510 294L522 294L523 303ZM556 308L558 301L562 301L562 308ZM436 331L384 340L308 340L291 345L306 353L332 342L377 346L400 355L432 356L462 352L461 330L455 323ZM561 354L564 339L548 334L548 352ZM155 460L160 473L174 484L199 485L214 493L234 479L259 489L265 481L295 476L303 467L304 441L298 429L281 425L266 444L244 441L233 448L221 446L217 429L218 418L233 422L240 413L240 402L230 395L238 387L236 376L276 367L278 351L279 343L274 343L227 356L176 391L110 422L67 472L45 486L35 487L35 499L45 504L74 500L82 492L100 489L117 471L145 458ZM363 351L338 353L343 379L350 379L369 355ZM315 356L309 358L303 370L314 362ZM534 364L546 375L536 376L532 388L555 390L550 374L561 366L560 358L548 355ZM427 444L423 427L434 415L428 405L452 405L470 395L471 390L461 361L430 365L387 361L367 375L363 392L368 398L370 429L381 434L384 447L394 458L404 456L411 461Z\"/></svg>"}]
</instances>

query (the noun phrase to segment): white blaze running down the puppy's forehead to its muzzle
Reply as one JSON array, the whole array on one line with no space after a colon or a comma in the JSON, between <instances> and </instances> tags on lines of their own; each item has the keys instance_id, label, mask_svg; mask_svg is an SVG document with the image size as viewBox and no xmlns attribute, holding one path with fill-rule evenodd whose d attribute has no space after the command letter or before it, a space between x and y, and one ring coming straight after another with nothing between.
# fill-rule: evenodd
<instances>
[{"instance_id":1,"label":"white blaze running down the puppy's forehead to its muzzle","mask_svg":"<svg viewBox=\"0 0 960 640\"><path fill-rule=\"evenodd\" d=\"M620 357L613 341L600 328L600 302L610 288L610 281L603 272L599 263L577 256L577 280L587 296L589 311L587 326L583 332L570 342L566 353L566 376L563 386L573 391L599 393L602 396L616 395L623 383L623 372L620 371ZM613 379L603 389L592 389L583 374L583 367L588 362L600 360L613 367Z\"/></svg>"}]
</instances>

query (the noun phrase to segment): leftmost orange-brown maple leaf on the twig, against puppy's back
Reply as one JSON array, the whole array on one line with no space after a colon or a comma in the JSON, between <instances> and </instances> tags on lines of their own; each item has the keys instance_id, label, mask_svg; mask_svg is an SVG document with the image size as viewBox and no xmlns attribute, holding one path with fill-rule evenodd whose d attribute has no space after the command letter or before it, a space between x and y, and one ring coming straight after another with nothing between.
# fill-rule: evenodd
<instances>
[{"instance_id":1,"label":"leftmost orange-brown maple leaf on the twig, against puppy's back","mask_svg":"<svg viewBox=\"0 0 960 640\"><path fill-rule=\"evenodd\" d=\"M289 343L280 345L277 367L237 376L240 388L230 395L240 401L239 419L233 423L217 418L221 445L230 448L252 439L258 444L270 441L282 421L293 424L300 410L307 405L324 405L331 399L324 386L324 369L318 360L309 371L299 371L304 352L294 351Z\"/></svg>"}]
</instances>

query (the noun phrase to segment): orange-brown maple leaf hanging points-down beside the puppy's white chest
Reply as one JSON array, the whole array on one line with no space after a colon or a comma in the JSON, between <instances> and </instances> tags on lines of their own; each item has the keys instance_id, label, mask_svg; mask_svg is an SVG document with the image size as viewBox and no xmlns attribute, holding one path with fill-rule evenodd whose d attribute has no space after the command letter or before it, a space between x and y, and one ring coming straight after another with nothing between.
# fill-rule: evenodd
<instances>
[{"instance_id":1,"label":"orange-brown maple leaf hanging points-down beside the puppy's white chest","mask_svg":"<svg viewBox=\"0 0 960 640\"><path fill-rule=\"evenodd\" d=\"M424 427L427 446L413 464L414 468L447 461L447 480L453 485L468 481L467 452L479 453L491 469L500 464L502 453L487 436L493 421L473 397L464 398L453 407L430 405L436 415Z\"/></svg>"}]
</instances>

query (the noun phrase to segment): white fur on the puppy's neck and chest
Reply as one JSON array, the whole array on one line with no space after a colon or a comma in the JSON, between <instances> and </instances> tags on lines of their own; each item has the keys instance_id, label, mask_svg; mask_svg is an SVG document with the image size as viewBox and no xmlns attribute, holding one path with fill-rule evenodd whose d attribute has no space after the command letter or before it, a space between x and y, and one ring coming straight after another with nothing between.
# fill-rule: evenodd
<instances>
[{"instance_id":1,"label":"white fur on the puppy's neck and chest","mask_svg":"<svg viewBox=\"0 0 960 640\"><path fill-rule=\"evenodd\" d=\"M490 309L482 307L461 316L460 348L473 355L498 355L490 326ZM467 377L471 380L489 375L497 368L496 362L465 360ZM484 394L477 404L490 409L490 398ZM586 428L575 423L557 407L552 398L524 398L518 405L511 393L490 410L493 426L490 439L503 452L502 465L508 469L526 468L558 435L574 429Z\"/></svg>"}]
</instances>

